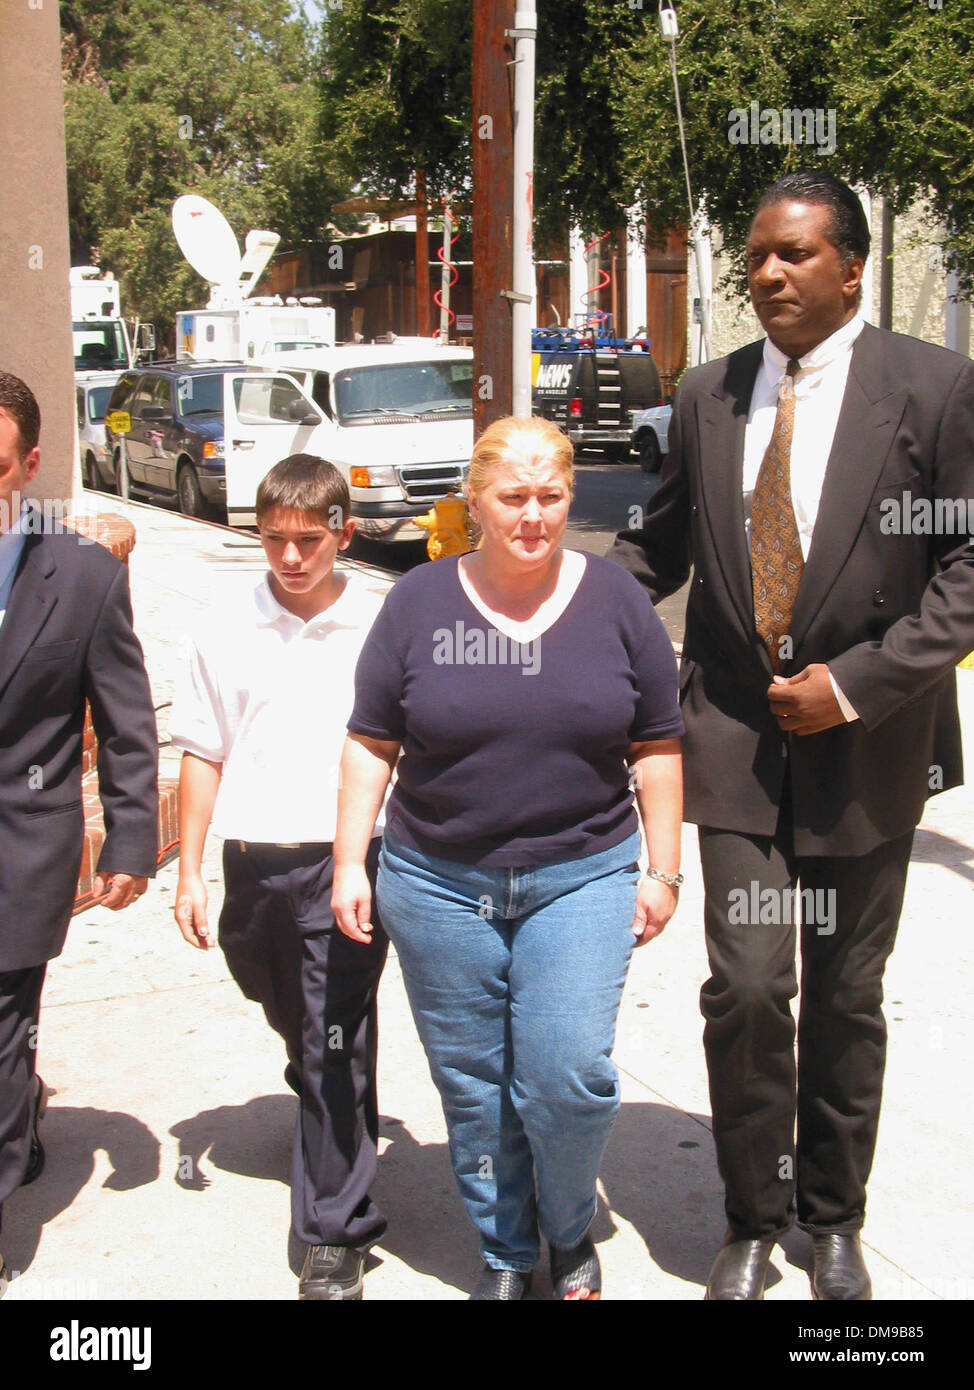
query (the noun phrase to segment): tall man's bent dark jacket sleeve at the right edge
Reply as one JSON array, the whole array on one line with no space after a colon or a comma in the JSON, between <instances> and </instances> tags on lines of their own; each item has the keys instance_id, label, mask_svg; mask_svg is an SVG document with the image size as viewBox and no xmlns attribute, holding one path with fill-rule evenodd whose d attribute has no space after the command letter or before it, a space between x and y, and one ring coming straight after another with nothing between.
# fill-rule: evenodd
<instances>
[{"instance_id":1,"label":"tall man's bent dark jacket sleeve at the right edge","mask_svg":"<svg viewBox=\"0 0 974 1390\"><path fill-rule=\"evenodd\" d=\"M946 398L934 442L934 502L960 505L960 532L932 537L936 573L920 609L882 641L860 642L828 663L867 730L923 695L974 651L974 367L964 363Z\"/></svg>"}]
</instances>

